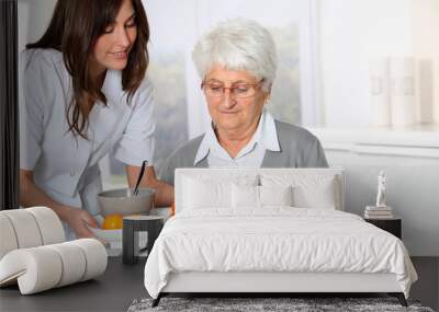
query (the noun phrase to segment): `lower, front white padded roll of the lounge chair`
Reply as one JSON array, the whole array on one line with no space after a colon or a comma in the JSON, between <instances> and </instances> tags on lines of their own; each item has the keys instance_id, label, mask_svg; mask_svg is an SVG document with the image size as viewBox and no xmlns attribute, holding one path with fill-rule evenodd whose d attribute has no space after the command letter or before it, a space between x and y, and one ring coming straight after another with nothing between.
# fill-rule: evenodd
<instances>
[{"instance_id":1,"label":"lower, front white padded roll of the lounge chair","mask_svg":"<svg viewBox=\"0 0 439 312\"><path fill-rule=\"evenodd\" d=\"M0 261L0 286L19 284L22 294L83 281L106 268L106 251L94 239L20 249Z\"/></svg>"}]
</instances>

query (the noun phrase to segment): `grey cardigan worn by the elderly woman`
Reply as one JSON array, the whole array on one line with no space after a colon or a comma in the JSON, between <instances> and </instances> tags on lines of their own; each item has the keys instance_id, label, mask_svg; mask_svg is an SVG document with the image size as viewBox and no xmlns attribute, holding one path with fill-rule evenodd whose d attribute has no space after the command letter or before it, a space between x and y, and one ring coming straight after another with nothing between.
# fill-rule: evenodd
<instances>
[{"instance_id":1,"label":"grey cardigan worn by the elderly woman","mask_svg":"<svg viewBox=\"0 0 439 312\"><path fill-rule=\"evenodd\" d=\"M328 163L317 138L308 130L274 120L281 151L267 150L261 167L326 167ZM159 170L161 181L173 185L177 167L209 167L207 157L194 165L194 160L204 135L178 148Z\"/></svg>"}]
</instances>

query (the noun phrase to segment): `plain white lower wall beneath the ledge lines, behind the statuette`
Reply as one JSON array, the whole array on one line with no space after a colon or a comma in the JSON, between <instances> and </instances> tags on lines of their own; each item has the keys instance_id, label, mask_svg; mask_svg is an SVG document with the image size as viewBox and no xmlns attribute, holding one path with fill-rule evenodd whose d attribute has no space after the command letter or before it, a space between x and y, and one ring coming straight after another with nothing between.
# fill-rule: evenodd
<instances>
[{"instance_id":1,"label":"plain white lower wall beneath the ledge lines, behind the statuette","mask_svg":"<svg viewBox=\"0 0 439 312\"><path fill-rule=\"evenodd\" d=\"M403 242L412 256L439 256L439 159L326 151L346 170L345 209L362 216L375 204L376 176L387 175L387 205L402 218Z\"/></svg>"}]
</instances>

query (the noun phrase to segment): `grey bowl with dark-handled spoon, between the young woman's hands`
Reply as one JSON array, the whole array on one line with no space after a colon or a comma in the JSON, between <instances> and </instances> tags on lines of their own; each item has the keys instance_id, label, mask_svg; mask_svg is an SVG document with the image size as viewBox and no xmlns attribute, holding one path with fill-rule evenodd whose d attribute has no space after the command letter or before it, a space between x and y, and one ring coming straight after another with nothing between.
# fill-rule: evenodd
<instances>
[{"instance_id":1,"label":"grey bowl with dark-handled spoon, between the young woman's hands","mask_svg":"<svg viewBox=\"0 0 439 312\"><path fill-rule=\"evenodd\" d=\"M133 188L117 188L98 194L99 205L103 217L119 213L122 216L144 213L149 215L154 208L155 190L149 187L138 188L138 194L133 194Z\"/></svg>"}]
</instances>

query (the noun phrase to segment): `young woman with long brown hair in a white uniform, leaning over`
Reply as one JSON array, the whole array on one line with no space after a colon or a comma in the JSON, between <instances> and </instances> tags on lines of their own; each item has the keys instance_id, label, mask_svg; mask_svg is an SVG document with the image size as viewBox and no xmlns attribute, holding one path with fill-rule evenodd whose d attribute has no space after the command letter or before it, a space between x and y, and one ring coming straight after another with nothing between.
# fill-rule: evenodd
<instances>
[{"instance_id":1,"label":"young woman with long brown hair in a white uniform, leaning over","mask_svg":"<svg viewBox=\"0 0 439 312\"><path fill-rule=\"evenodd\" d=\"M58 0L22 54L20 201L50 207L77 238L97 226L98 162L109 151L126 164L130 186L149 162L143 185L156 189L156 205L172 196L151 166L148 39L140 0Z\"/></svg>"}]
</instances>

